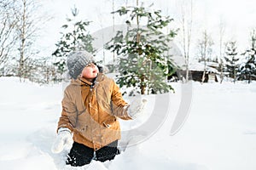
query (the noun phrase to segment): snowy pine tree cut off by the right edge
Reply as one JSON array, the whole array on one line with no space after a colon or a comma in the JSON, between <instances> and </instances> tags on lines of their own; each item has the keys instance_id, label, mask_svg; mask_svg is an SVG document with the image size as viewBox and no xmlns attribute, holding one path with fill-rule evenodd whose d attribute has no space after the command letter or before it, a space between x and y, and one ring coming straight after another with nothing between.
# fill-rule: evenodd
<instances>
[{"instance_id":1,"label":"snowy pine tree cut off by the right edge","mask_svg":"<svg viewBox=\"0 0 256 170\"><path fill-rule=\"evenodd\" d=\"M241 65L240 79L247 80L248 83L256 80L256 29L251 34L251 47L242 55L246 57L246 62Z\"/></svg>"}]
</instances>

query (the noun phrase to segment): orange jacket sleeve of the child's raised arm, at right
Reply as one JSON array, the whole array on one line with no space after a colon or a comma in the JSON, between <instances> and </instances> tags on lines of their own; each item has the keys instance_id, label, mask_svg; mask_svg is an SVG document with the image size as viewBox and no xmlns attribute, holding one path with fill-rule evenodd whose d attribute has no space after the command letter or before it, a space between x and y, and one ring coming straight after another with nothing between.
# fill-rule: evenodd
<instances>
[{"instance_id":1,"label":"orange jacket sleeve of the child's raised arm, at right","mask_svg":"<svg viewBox=\"0 0 256 170\"><path fill-rule=\"evenodd\" d=\"M131 116L128 115L127 109L129 105L123 99L123 96L119 90L119 86L113 81L113 91L111 94L111 107L113 116L117 116L123 120L131 120Z\"/></svg>"}]
</instances>

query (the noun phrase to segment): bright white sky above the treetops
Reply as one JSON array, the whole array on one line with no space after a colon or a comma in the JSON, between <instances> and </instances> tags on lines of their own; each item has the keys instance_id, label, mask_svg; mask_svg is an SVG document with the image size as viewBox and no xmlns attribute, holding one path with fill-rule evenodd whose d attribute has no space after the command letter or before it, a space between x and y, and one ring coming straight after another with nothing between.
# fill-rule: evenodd
<instances>
[{"instance_id":1,"label":"bright white sky above the treetops","mask_svg":"<svg viewBox=\"0 0 256 170\"><path fill-rule=\"evenodd\" d=\"M181 25L181 2L189 4L189 0L148 0L143 2L144 6L154 3L152 8L161 9L164 15L170 15L174 19L173 28ZM71 16L71 8L79 8L79 17L82 20L90 20L92 23L88 28L91 33L99 31L104 27L113 26L112 0L43 0L42 11L53 16L52 20L43 27L42 37L39 44L45 48L46 53L55 49L55 43L59 40L61 26L66 23L66 17ZM114 9L120 6L136 5L136 0L118 0L114 1ZM256 27L256 1L254 0L193 0L193 30L191 50L195 54L196 42L201 37L201 32L207 30L215 42L214 47L218 51L219 47L219 28L220 23L224 25L224 42L236 41L238 50L244 51L249 44L250 31ZM115 16L114 24L123 24ZM181 46L180 37L175 39L178 46ZM50 54L50 53L49 53Z\"/></svg>"}]
</instances>

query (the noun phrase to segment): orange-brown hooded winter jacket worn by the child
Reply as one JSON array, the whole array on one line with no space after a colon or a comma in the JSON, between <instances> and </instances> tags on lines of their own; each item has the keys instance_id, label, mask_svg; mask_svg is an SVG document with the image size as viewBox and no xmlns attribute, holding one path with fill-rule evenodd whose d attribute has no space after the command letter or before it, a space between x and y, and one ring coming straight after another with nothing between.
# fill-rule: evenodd
<instances>
[{"instance_id":1,"label":"orange-brown hooded winter jacket worn by the child","mask_svg":"<svg viewBox=\"0 0 256 170\"><path fill-rule=\"evenodd\" d=\"M71 82L61 104L58 128L69 128L75 142L94 150L120 139L117 117L131 120L119 87L102 73L96 77L93 87L82 77Z\"/></svg>"}]
</instances>

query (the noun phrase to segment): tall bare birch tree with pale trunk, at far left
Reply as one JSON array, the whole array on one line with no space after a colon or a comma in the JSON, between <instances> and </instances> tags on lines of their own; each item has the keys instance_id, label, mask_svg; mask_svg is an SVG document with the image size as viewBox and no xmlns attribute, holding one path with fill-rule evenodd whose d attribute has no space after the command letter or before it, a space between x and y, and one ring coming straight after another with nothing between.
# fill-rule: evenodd
<instances>
[{"instance_id":1,"label":"tall bare birch tree with pale trunk, at far left","mask_svg":"<svg viewBox=\"0 0 256 170\"><path fill-rule=\"evenodd\" d=\"M35 57L38 50L34 47L40 27L50 18L38 14L40 3L33 0L15 1L17 43L19 51L19 77L26 77L26 59ZM28 70L29 71L29 70Z\"/></svg>"}]
</instances>

